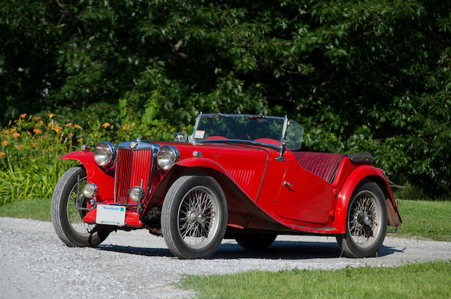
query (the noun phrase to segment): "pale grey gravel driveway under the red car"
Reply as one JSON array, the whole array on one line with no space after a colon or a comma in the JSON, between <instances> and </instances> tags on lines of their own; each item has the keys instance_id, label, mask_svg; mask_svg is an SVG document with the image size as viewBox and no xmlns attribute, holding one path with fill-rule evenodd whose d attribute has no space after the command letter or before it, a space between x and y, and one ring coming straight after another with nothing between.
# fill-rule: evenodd
<instances>
[{"instance_id":1,"label":"pale grey gravel driveway under the red car","mask_svg":"<svg viewBox=\"0 0 451 299\"><path fill-rule=\"evenodd\" d=\"M190 298L185 274L339 269L451 260L451 243L385 238L378 257L340 257L335 238L279 236L264 252L224 240L210 260L178 260L145 230L111 233L98 248L68 248L50 222L0 217L0 298Z\"/></svg>"}]
</instances>

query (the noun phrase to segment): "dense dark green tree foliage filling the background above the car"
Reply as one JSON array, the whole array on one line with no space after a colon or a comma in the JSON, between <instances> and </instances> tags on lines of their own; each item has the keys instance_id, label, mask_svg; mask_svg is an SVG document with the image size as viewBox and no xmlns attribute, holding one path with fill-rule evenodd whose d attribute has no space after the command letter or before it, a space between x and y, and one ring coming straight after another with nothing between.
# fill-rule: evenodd
<instances>
[{"instance_id":1,"label":"dense dark green tree foliage filling the background above the car","mask_svg":"<svg viewBox=\"0 0 451 299\"><path fill-rule=\"evenodd\" d=\"M4 126L50 110L86 135L166 138L199 111L288 114L304 150L371 152L432 196L451 188L450 59L450 1L0 6Z\"/></svg>"}]
</instances>

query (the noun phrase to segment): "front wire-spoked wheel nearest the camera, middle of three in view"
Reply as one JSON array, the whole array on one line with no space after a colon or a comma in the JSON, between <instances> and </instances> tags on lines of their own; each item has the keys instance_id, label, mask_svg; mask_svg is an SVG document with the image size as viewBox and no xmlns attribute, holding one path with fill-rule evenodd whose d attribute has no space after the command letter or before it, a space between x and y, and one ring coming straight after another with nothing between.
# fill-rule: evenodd
<instances>
[{"instance_id":1,"label":"front wire-spoked wheel nearest the camera, middle of three in view","mask_svg":"<svg viewBox=\"0 0 451 299\"><path fill-rule=\"evenodd\" d=\"M227 202L210 176L182 176L173 183L161 210L161 231L169 250L180 259L214 254L227 227Z\"/></svg>"}]
</instances>

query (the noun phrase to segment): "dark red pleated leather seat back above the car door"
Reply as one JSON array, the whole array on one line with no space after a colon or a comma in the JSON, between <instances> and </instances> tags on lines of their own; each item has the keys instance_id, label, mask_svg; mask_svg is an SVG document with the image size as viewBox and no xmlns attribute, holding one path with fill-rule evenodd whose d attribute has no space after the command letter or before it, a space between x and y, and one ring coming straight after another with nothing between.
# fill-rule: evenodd
<instances>
[{"instance_id":1,"label":"dark red pleated leather seat back above the car door","mask_svg":"<svg viewBox=\"0 0 451 299\"><path fill-rule=\"evenodd\" d=\"M292 152L297 163L328 183L333 183L338 167L345 154L329 154L326 152Z\"/></svg>"}]
</instances>

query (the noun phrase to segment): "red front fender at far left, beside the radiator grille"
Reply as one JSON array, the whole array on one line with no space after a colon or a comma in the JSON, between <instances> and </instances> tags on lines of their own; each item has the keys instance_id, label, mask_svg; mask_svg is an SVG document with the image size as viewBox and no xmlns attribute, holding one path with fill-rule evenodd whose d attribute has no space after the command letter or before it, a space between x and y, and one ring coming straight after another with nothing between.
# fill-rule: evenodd
<instances>
[{"instance_id":1,"label":"red front fender at far left, beside the radiator grille","mask_svg":"<svg viewBox=\"0 0 451 299\"><path fill-rule=\"evenodd\" d=\"M114 197L114 170L104 171L94 160L94 153L87 151L75 151L63 154L59 159L80 161L85 167L87 181L99 187L96 200L111 200Z\"/></svg>"}]
</instances>

